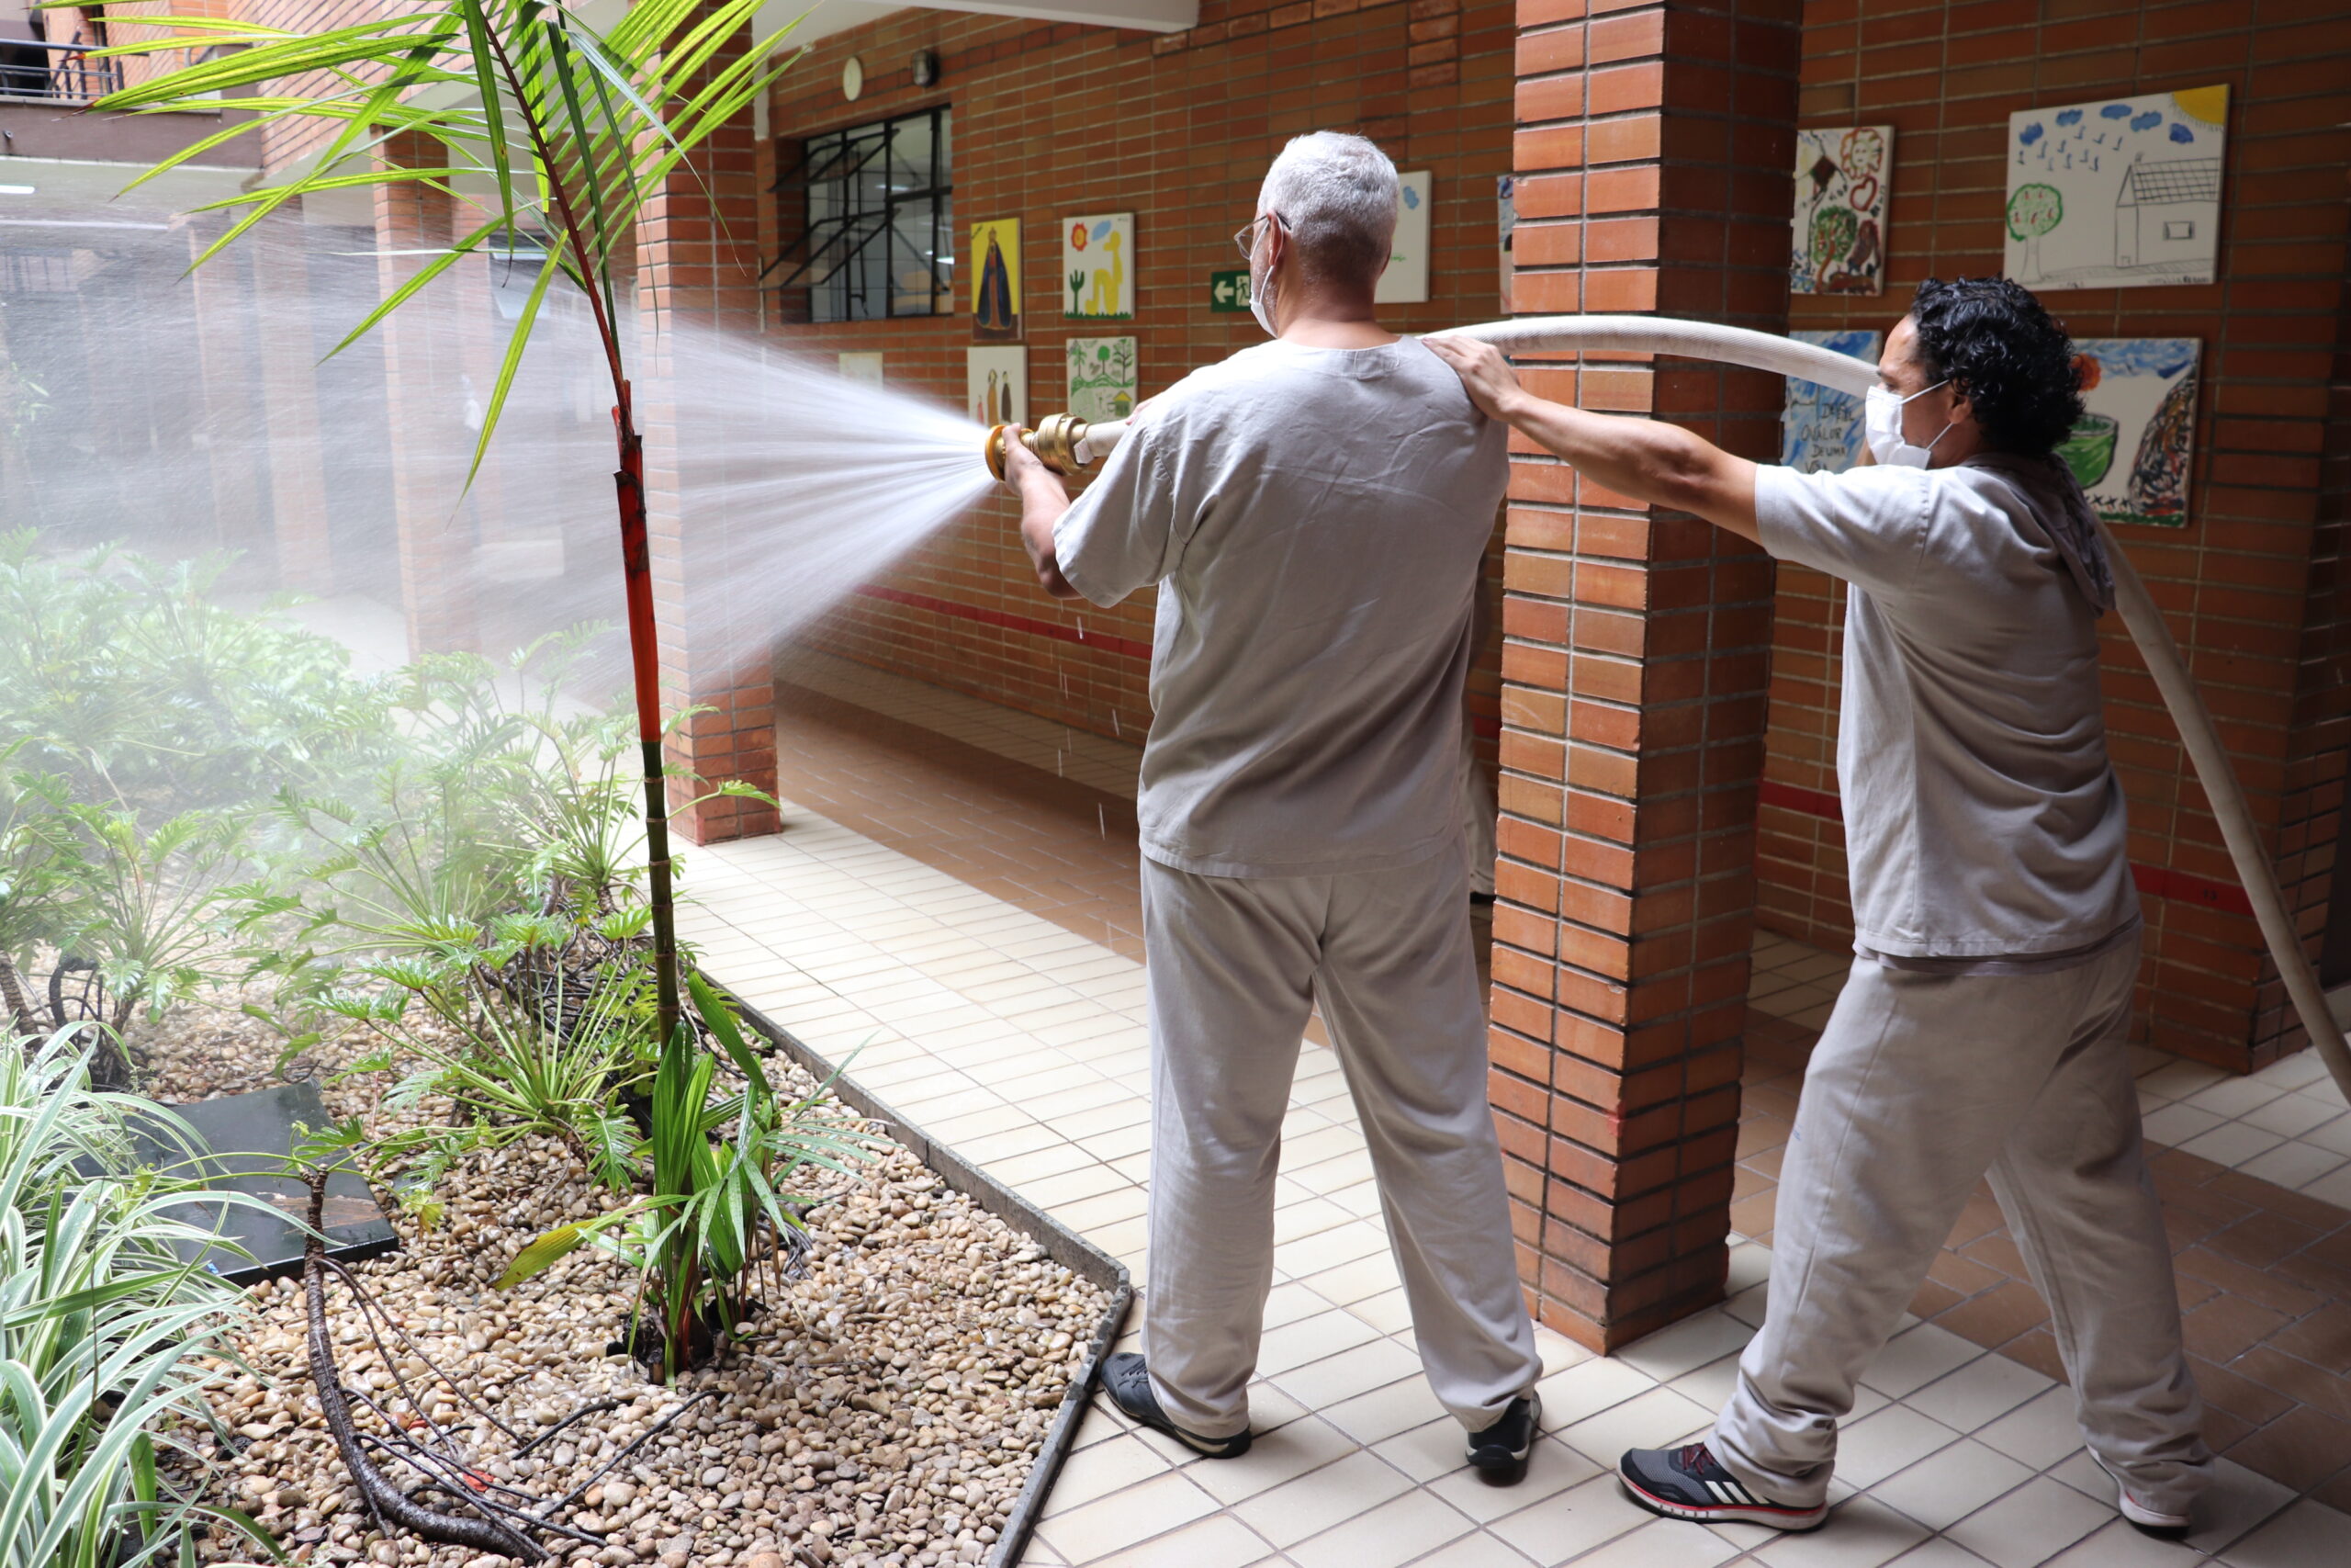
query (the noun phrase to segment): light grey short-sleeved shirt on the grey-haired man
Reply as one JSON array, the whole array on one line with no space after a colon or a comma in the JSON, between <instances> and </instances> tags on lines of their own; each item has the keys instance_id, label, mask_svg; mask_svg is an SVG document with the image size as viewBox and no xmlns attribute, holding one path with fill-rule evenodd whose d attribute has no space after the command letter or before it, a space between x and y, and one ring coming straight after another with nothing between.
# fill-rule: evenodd
<instances>
[{"instance_id":1,"label":"light grey short-sleeved shirt on the grey-haired man","mask_svg":"<svg viewBox=\"0 0 2351 1568\"><path fill-rule=\"evenodd\" d=\"M1159 583L1145 856L1305 877L1411 865L1460 835L1502 442L1415 339L1260 343L1136 418L1053 550L1096 604Z\"/></svg>"}]
</instances>

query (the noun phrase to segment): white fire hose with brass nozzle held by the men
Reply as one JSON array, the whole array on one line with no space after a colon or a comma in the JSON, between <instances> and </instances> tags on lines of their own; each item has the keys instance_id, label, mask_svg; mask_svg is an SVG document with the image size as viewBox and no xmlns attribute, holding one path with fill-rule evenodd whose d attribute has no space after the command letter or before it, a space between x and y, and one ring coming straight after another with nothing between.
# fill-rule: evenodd
<instances>
[{"instance_id":1,"label":"white fire hose with brass nozzle held by the men","mask_svg":"<svg viewBox=\"0 0 2351 1568\"><path fill-rule=\"evenodd\" d=\"M1794 339L1749 331L1747 327L1681 322L1662 315L1531 315L1509 322L1453 327L1434 336L1479 339L1505 353L1643 353L1721 360L1723 364L1813 381L1838 393L1850 393L1853 397L1864 395L1876 383L1871 364L1831 348L1796 343ZM1119 444L1126 428L1128 421L1124 418L1089 423L1074 414L1049 414L1037 421L1034 430L1020 433L1020 444L1034 451L1053 473L1074 475L1110 456L1110 449ZM1009 430L1011 425L997 425L987 433L983 447L987 473L997 480L1004 477L1004 440ZM2203 705L2196 677L2189 675L2186 661L2179 658L2179 644L2172 642L2163 611L2156 609L2146 583L2139 581L2130 557L2123 555L2121 541L2104 520L2097 524L2097 531L2106 541L2106 557L2114 567L2116 609L2123 611L2123 625L2130 628L2132 642L2139 644L2139 656L2156 679L2156 691L2163 693L2163 705L2179 729L2179 741L2196 769L2196 783L2203 785L2205 799L2212 802L2212 816L2219 820L2222 839L2229 844L2238 882L2245 884L2245 896L2262 926L2269 957L2278 966L2278 978L2285 980L2285 994L2292 999L2302 1027L2318 1048L2318 1058L2335 1077L2335 1088L2351 1100L2351 1044L2344 1041L2344 1030L2335 1023L2335 1011L2318 985L2318 971L2311 969L2311 959L2302 950L2302 936L2285 907L2285 893L2278 891L2276 870L2271 870L2269 858L2262 853L2262 830L2245 804L2245 790L2229 762L2229 750L2222 745L2219 729L2212 724L2212 712Z\"/></svg>"}]
</instances>

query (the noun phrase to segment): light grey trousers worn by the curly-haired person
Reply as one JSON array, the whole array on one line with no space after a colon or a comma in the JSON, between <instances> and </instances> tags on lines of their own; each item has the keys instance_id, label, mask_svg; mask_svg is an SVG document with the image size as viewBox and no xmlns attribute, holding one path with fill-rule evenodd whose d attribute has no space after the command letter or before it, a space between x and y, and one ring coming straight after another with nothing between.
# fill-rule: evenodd
<instances>
[{"instance_id":1,"label":"light grey trousers worn by the curly-haired person","mask_svg":"<svg viewBox=\"0 0 2351 1568\"><path fill-rule=\"evenodd\" d=\"M2036 976L1857 959L1780 1166L1770 1302L1714 1422L1756 1495L1827 1497L1836 1420L1989 1168L2090 1453L2142 1505L2210 1479L2123 1030L2139 945Z\"/></svg>"}]
</instances>

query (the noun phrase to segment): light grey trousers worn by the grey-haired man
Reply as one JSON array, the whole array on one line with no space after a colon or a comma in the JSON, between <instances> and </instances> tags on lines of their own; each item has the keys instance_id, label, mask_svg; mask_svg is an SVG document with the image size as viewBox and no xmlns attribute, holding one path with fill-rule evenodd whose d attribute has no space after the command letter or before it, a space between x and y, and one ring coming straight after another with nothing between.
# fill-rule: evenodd
<instances>
[{"instance_id":1,"label":"light grey trousers worn by the grey-haired man","mask_svg":"<svg viewBox=\"0 0 2351 1568\"><path fill-rule=\"evenodd\" d=\"M1385 872L1143 863L1152 1025L1143 1354L1180 1427L1248 1425L1274 1171L1314 997L1371 1145L1436 1401L1472 1432L1542 1378L1519 1293L1460 846Z\"/></svg>"}]
</instances>

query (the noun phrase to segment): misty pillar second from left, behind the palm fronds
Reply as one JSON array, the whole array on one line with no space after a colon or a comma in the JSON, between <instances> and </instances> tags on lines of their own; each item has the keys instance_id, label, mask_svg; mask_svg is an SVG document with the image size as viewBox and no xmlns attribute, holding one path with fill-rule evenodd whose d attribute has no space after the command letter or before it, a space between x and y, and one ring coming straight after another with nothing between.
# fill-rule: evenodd
<instances>
[{"instance_id":1,"label":"misty pillar second from left, behind the palm fronds","mask_svg":"<svg viewBox=\"0 0 2351 1568\"><path fill-rule=\"evenodd\" d=\"M440 162L428 143L393 136L383 155ZM456 237L454 200L423 181L376 186L376 280L390 294ZM400 524L400 602L409 654L473 649L473 515L458 489L473 458L465 428L465 343L444 275L393 310L383 334L383 402Z\"/></svg>"}]
</instances>

